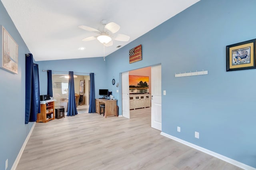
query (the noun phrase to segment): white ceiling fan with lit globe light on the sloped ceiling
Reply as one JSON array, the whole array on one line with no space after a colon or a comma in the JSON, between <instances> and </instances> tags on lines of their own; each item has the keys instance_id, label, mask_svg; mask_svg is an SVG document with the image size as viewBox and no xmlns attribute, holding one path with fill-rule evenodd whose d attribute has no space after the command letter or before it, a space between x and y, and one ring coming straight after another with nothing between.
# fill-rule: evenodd
<instances>
[{"instance_id":1,"label":"white ceiling fan with lit globe light on the sloped ceiling","mask_svg":"<svg viewBox=\"0 0 256 170\"><path fill-rule=\"evenodd\" d=\"M82 28L86 31L90 31L98 34L97 36L84 38L82 41L91 41L91 40L97 39L99 40L99 42L103 43L104 46L108 47L113 45L112 38L114 40L122 41L122 42L127 42L130 40L130 37L124 34L114 35L114 33L118 32L118 30L120 29L120 26L118 24L114 22L110 22L107 24L106 20L102 20L101 24L103 25L102 30L97 30L95 28L88 27L88 26L78 26L79 28Z\"/></svg>"}]
</instances>

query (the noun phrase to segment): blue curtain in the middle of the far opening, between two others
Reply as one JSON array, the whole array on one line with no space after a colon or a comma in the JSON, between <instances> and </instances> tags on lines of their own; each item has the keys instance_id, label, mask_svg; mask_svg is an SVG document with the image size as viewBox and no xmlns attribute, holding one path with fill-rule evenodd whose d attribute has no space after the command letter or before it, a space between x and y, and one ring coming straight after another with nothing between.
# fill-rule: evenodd
<instances>
[{"instance_id":1,"label":"blue curtain in the middle of the far opening, between two others","mask_svg":"<svg viewBox=\"0 0 256 170\"><path fill-rule=\"evenodd\" d=\"M76 101L75 101L75 87L74 87L74 73L73 71L68 72L68 114L67 116L77 115Z\"/></svg>"}]
</instances>

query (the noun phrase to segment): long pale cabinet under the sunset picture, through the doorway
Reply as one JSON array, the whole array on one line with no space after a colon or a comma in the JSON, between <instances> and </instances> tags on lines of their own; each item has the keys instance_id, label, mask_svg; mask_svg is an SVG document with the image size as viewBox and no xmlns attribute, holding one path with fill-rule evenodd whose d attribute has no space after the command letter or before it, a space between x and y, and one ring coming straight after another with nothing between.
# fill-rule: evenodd
<instances>
[{"instance_id":1,"label":"long pale cabinet under the sunset picture, through the doorway","mask_svg":"<svg viewBox=\"0 0 256 170\"><path fill-rule=\"evenodd\" d=\"M150 94L130 95L130 109L146 108L151 106Z\"/></svg>"}]
</instances>

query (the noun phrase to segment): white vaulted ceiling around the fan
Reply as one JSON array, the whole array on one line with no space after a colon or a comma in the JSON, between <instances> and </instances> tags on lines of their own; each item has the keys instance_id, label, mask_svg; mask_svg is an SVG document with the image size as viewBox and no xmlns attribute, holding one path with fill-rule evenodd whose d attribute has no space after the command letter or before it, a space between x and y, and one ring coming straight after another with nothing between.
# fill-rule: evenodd
<instances>
[{"instance_id":1,"label":"white vaulted ceiling around the fan","mask_svg":"<svg viewBox=\"0 0 256 170\"><path fill-rule=\"evenodd\" d=\"M119 34L130 36L128 42L114 40L105 48L105 56L118 45L132 42L172 18L199 0L1 0L36 61L104 56L95 36L78 28L99 29L101 20L120 25ZM8 30L7 30L8 31ZM85 47L83 51L79 47Z\"/></svg>"}]
</instances>

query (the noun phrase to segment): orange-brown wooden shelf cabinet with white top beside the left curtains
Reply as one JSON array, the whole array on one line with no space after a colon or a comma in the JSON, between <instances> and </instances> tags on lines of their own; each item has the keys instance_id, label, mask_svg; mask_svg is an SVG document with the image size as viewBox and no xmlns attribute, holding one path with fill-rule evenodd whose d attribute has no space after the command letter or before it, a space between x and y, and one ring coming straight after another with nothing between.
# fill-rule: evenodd
<instances>
[{"instance_id":1,"label":"orange-brown wooden shelf cabinet with white top beside the left curtains","mask_svg":"<svg viewBox=\"0 0 256 170\"><path fill-rule=\"evenodd\" d=\"M54 120L54 117L55 117L54 101L56 100L40 101L41 113L37 114L36 122L46 123L50 120Z\"/></svg>"}]
</instances>

